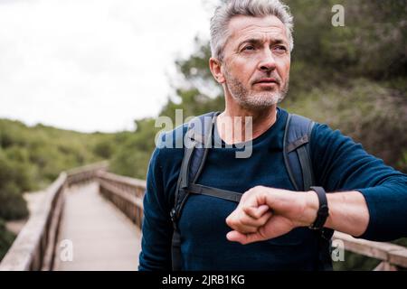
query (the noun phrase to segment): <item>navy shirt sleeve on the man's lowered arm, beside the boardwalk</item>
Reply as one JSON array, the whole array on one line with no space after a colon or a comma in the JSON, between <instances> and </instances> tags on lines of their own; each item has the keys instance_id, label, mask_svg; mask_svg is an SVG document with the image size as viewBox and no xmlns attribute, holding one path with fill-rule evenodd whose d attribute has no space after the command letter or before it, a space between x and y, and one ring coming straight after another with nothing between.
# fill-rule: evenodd
<instances>
[{"instance_id":1,"label":"navy shirt sleeve on the man's lowered arm, beside the boardwalk","mask_svg":"<svg viewBox=\"0 0 407 289\"><path fill-rule=\"evenodd\" d=\"M147 188L143 200L144 219L139 256L140 271L171 270L173 225L163 185L160 149L151 156L147 172Z\"/></svg>"}]
</instances>

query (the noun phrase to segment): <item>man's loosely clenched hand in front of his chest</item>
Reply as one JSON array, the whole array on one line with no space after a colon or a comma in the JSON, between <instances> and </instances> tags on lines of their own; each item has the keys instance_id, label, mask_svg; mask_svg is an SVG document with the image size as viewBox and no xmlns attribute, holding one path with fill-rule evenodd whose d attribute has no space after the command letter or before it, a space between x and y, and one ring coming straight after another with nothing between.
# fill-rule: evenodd
<instances>
[{"instance_id":1,"label":"man's loosely clenched hand in front of his chest","mask_svg":"<svg viewBox=\"0 0 407 289\"><path fill-rule=\"evenodd\" d=\"M291 229L309 226L317 218L315 191L286 191L257 186L241 196L236 210L226 219L233 228L230 241L248 244L276 238Z\"/></svg>"}]
</instances>

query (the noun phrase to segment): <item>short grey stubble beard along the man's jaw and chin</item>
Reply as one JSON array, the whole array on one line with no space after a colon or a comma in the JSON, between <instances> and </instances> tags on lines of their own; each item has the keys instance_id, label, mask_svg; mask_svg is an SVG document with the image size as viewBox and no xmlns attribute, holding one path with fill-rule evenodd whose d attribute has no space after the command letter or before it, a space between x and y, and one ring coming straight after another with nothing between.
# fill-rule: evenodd
<instances>
[{"instance_id":1,"label":"short grey stubble beard along the man's jaw and chin","mask_svg":"<svg viewBox=\"0 0 407 289\"><path fill-rule=\"evenodd\" d=\"M279 91L260 91L250 92L246 89L241 81L232 77L228 71L225 71L226 87L232 94L232 98L236 99L241 107L250 109L264 109L274 106L281 102L289 91L289 79L287 79L284 87Z\"/></svg>"}]
</instances>

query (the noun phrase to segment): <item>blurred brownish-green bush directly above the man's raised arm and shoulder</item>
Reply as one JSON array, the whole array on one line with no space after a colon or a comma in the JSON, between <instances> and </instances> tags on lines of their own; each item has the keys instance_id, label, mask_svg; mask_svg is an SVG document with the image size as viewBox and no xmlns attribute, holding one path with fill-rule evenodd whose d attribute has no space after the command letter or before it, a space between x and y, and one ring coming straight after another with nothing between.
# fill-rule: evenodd
<instances>
[{"instance_id":1,"label":"blurred brownish-green bush directly above the man's raised arm and shoulder","mask_svg":"<svg viewBox=\"0 0 407 289\"><path fill-rule=\"evenodd\" d=\"M340 129L364 149L407 172L407 99L395 89L368 79L353 79L345 89L337 84L321 86L282 104L291 112ZM385 128L385 129L383 129Z\"/></svg>"}]
</instances>

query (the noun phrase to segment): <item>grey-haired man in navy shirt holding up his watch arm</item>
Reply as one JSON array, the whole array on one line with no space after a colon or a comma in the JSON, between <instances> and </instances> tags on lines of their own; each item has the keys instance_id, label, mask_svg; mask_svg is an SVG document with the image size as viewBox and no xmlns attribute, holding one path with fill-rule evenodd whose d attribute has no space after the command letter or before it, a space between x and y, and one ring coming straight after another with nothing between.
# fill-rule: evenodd
<instances>
[{"instance_id":1,"label":"grey-haired man in navy shirt holding up his watch arm","mask_svg":"<svg viewBox=\"0 0 407 289\"><path fill-rule=\"evenodd\" d=\"M289 114L277 107L289 88L293 49L285 5L226 2L211 21L211 48L210 69L224 90L225 110L213 118L210 136L223 145L209 149L195 181L242 197L236 205L191 193L173 223L185 150L157 148L147 173L140 270L174 268L175 231L183 270L329 269L320 264L321 253L329 254L319 246L320 228L375 240L407 235L407 176L325 125L313 126L309 143L319 187L296 191L282 153ZM231 117L251 117L251 136L241 139L246 134ZM187 126L180 129L185 134ZM224 145L242 140L251 142L248 158Z\"/></svg>"}]
</instances>

